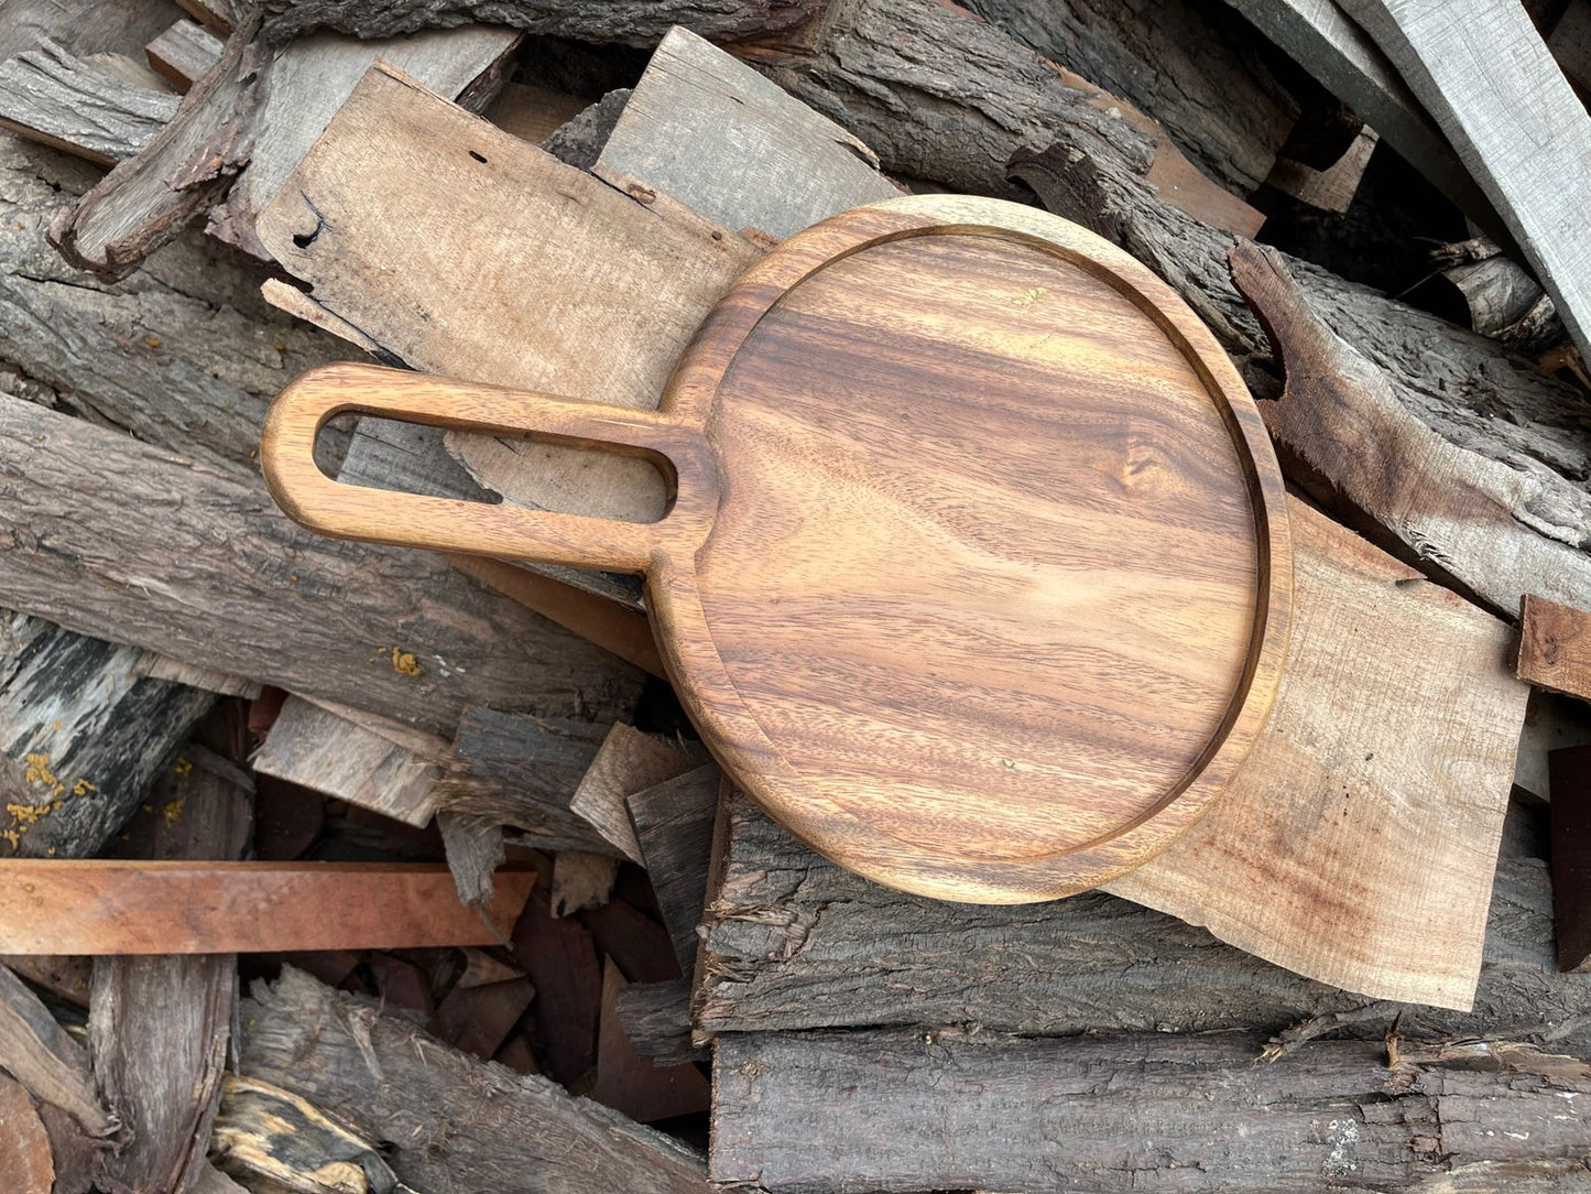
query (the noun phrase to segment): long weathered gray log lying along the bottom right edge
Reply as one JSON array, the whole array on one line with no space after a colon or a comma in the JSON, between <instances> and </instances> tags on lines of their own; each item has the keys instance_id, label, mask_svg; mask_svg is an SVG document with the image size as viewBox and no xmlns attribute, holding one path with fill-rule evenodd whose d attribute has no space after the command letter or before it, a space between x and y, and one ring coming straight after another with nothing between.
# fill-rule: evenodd
<instances>
[{"instance_id":1,"label":"long weathered gray log lying along the bottom right edge","mask_svg":"<svg viewBox=\"0 0 1591 1194\"><path fill-rule=\"evenodd\" d=\"M1246 1033L725 1036L711 1175L780 1194L1585 1191L1591 1067ZM1534 1184L1532 1184L1534 1181Z\"/></svg>"}]
</instances>

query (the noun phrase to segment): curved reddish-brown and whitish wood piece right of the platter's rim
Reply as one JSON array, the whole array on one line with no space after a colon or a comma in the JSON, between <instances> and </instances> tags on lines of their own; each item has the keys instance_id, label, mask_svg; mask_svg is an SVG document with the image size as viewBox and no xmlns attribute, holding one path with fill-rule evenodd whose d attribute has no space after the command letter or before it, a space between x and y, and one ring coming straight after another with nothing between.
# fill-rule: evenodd
<instances>
[{"instance_id":1,"label":"curved reddish-brown and whitish wood piece right of the platter's rim","mask_svg":"<svg viewBox=\"0 0 1591 1194\"><path fill-rule=\"evenodd\" d=\"M1395 529L1494 610L1524 592L1572 602L1591 592L1591 497L1524 460L1488 458L1445 439L1398 401L1387 376L1332 331L1282 256L1239 244L1231 272L1287 374L1260 412L1289 476L1360 525Z\"/></svg>"}]
</instances>

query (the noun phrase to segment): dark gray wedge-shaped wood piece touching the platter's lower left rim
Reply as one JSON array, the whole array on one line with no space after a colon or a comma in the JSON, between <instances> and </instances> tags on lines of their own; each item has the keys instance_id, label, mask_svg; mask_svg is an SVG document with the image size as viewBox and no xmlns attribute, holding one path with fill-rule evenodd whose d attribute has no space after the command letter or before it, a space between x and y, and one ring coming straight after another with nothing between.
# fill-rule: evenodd
<instances>
[{"instance_id":1,"label":"dark gray wedge-shaped wood piece touching the platter's lower left rim","mask_svg":"<svg viewBox=\"0 0 1591 1194\"><path fill-rule=\"evenodd\" d=\"M722 786L724 772L708 763L625 799L681 974L695 968L697 923L706 906L708 855Z\"/></svg>"}]
</instances>

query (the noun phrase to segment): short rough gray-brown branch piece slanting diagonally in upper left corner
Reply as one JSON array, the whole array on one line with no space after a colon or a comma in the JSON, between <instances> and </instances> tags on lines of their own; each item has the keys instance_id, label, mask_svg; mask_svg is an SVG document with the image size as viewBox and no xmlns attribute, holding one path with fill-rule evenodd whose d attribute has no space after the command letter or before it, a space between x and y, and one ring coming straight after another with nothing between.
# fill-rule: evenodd
<instances>
[{"instance_id":1,"label":"short rough gray-brown branch piece slanting diagonally in upper left corner","mask_svg":"<svg viewBox=\"0 0 1591 1194\"><path fill-rule=\"evenodd\" d=\"M70 264L126 277L226 193L253 148L270 65L258 27L256 16L234 30L159 135L51 223L49 242Z\"/></svg>"}]
</instances>

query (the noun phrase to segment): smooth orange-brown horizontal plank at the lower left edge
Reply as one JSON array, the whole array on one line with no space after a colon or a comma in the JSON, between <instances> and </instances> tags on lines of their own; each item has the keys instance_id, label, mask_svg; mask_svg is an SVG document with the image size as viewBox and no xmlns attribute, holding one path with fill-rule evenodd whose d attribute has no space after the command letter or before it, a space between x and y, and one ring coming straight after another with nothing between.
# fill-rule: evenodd
<instances>
[{"instance_id":1,"label":"smooth orange-brown horizontal plank at the lower left edge","mask_svg":"<svg viewBox=\"0 0 1591 1194\"><path fill-rule=\"evenodd\" d=\"M490 946L533 882L533 872L500 872L479 915L458 901L445 866L13 860L0 871L0 952Z\"/></svg>"}]
</instances>

